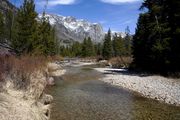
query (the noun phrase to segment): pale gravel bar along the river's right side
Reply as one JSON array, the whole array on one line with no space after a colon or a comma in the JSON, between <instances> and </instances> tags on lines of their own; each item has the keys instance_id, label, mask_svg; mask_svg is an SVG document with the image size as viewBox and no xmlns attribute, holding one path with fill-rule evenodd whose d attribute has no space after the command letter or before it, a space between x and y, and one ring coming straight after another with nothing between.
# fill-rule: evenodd
<instances>
[{"instance_id":1,"label":"pale gravel bar along the river's right side","mask_svg":"<svg viewBox=\"0 0 180 120\"><path fill-rule=\"evenodd\" d=\"M180 106L180 79L170 79L162 76L131 74L125 69L96 68L105 73L101 80L120 86L141 95Z\"/></svg>"}]
</instances>

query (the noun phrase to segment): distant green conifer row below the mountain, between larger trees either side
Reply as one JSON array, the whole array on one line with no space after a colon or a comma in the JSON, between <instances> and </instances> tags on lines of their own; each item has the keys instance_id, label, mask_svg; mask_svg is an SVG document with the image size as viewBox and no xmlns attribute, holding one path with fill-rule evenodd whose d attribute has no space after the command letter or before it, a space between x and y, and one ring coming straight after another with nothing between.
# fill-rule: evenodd
<instances>
[{"instance_id":1,"label":"distant green conifer row below the mountain, between larger trees either side","mask_svg":"<svg viewBox=\"0 0 180 120\"><path fill-rule=\"evenodd\" d=\"M106 60L112 57L131 56L132 36L128 27L126 31L123 38L117 33L112 35L109 29L102 42L94 43L88 37L82 43L76 41L66 47L60 46L59 54L66 57L100 57Z\"/></svg>"}]
</instances>

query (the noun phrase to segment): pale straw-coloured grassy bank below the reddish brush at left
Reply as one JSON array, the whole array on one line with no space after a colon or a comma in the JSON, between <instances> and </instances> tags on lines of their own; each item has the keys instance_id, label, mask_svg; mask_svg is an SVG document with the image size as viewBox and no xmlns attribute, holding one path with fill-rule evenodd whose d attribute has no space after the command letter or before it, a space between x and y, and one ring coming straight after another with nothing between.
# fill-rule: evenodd
<instances>
[{"instance_id":1,"label":"pale straw-coloured grassy bank below the reddish brush at left","mask_svg":"<svg viewBox=\"0 0 180 120\"><path fill-rule=\"evenodd\" d=\"M50 63L51 64L51 63ZM59 66L55 65L54 66ZM46 73L36 71L31 75L30 84L26 90L17 90L10 78L3 85L5 91L0 92L1 120L49 120L53 97L44 93L52 73L48 65ZM58 72L57 72L58 71ZM61 72L60 72L61 71ZM62 68L53 72L62 75ZM61 74L60 74L61 73ZM54 75L54 74L53 74Z\"/></svg>"}]
</instances>

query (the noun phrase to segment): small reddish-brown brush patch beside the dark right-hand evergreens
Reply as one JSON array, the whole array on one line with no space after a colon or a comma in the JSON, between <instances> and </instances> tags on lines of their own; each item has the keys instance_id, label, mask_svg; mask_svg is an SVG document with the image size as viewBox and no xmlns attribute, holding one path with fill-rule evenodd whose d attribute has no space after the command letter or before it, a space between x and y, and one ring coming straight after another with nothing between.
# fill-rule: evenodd
<instances>
[{"instance_id":1,"label":"small reddish-brown brush patch beside the dark right-hand evergreens","mask_svg":"<svg viewBox=\"0 0 180 120\"><path fill-rule=\"evenodd\" d=\"M129 67L132 63L132 57L114 57L109 60L113 67L121 68L121 67Z\"/></svg>"}]
</instances>

